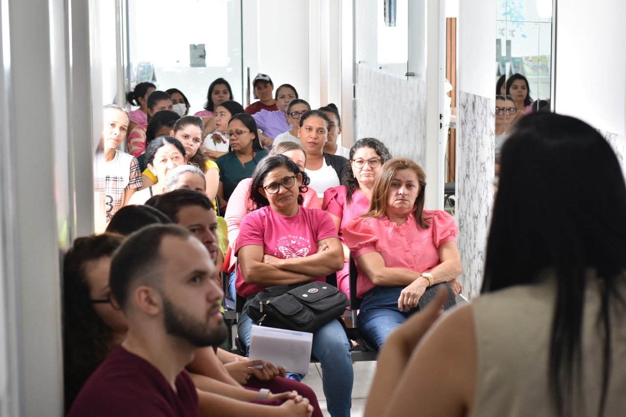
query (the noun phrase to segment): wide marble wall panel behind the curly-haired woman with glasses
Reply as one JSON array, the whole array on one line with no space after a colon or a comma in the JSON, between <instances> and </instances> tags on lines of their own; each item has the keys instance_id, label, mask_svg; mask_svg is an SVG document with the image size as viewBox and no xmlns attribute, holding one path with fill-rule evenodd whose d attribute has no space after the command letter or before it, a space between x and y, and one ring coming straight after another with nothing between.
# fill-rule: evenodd
<instances>
[{"instance_id":1,"label":"wide marble wall panel behind the curly-haired woman with glasses","mask_svg":"<svg viewBox=\"0 0 626 417\"><path fill-rule=\"evenodd\" d=\"M357 68L355 93L356 139L380 139L394 157L424 166L426 83Z\"/></svg>"}]
</instances>

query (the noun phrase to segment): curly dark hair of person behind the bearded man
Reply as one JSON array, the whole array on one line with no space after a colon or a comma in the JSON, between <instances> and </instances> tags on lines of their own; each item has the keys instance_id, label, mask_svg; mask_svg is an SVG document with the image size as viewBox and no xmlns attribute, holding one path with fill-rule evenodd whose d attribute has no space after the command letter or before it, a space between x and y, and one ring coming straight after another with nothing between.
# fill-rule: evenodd
<instances>
[{"instance_id":1,"label":"curly dark hair of person behind the bearded man","mask_svg":"<svg viewBox=\"0 0 626 417\"><path fill-rule=\"evenodd\" d=\"M113 348L113 335L90 301L86 266L112 256L124 236L116 233L78 238L63 261L63 371L66 410L91 373Z\"/></svg>"}]
</instances>

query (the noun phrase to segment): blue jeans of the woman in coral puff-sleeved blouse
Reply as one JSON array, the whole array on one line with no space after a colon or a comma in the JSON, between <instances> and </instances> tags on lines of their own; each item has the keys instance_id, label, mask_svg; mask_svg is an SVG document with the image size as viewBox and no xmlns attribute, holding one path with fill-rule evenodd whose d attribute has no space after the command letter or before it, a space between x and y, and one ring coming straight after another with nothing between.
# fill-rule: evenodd
<instances>
[{"instance_id":1,"label":"blue jeans of the woman in coral puff-sleeved blouse","mask_svg":"<svg viewBox=\"0 0 626 417\"><path fill-rule=\"evenodd\" d=\"M399 311L400 287L374 287L363 296L357 327L361 337L380 350L389 334L418 309Z\"/></svg>"}]
</instances>

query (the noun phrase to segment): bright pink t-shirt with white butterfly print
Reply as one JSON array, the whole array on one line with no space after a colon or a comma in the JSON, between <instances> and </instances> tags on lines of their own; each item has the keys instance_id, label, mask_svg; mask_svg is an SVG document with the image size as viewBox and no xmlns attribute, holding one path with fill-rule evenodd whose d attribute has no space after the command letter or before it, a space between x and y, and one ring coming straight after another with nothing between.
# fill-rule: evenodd
<instances>
[{"instance_id":1,"label":"bright pink t-shirt with white butterfly print","mask_svg":"<svg viewBox=\"0 0 626 417\"><path fill-rule=\"evenodd\" d=\"M335 225L326 211L299 207L295 216L282 216L265 206L242 220L235 255L243 246L258 244L263 246L265 254L276 258L304 258L317 253L317 242L336 237ZM318 276L314 281L325 279L326 276ZM244 297L265 289L264 286L245 283L241 268L237 268L235 288Z\"/></svg>"}]
</instances>

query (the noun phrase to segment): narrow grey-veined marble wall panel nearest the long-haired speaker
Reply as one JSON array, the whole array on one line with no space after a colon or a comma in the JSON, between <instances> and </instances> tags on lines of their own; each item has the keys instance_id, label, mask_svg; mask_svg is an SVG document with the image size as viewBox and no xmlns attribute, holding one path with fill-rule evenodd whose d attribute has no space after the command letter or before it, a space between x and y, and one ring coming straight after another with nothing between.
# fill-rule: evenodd
<instances>
[{"instance_id":1,"label":"narrow grey-veined marble wall panel nearest the long-haired speaker","mask_svg":"<svg viewBox=\"0 0 626 417\"><path fill-rule=\"evenodd\" d=\"M495 99L459 94L455 217L467 298L477 296L483 282L494 193L495 105Z\"/></svg>"}]
</instances>

